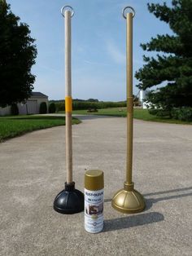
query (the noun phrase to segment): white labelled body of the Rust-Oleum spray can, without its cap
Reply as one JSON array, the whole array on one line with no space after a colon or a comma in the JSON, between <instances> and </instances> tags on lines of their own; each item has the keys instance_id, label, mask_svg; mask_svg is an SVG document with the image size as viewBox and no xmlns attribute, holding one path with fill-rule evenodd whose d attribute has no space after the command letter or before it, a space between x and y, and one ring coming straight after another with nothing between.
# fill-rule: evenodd
<instances>
[{"instance_id":1,"label":"white labelled body of the Rust-Oleum spray can, without its cap","mask_svg":"<svg viewBox=\"0 0 192 256\"><path fill-rule=\"evenodd\" d=\"M103 189L85 189L85 231L98 233L103 230Z\"/></svg>"}]
</instances>

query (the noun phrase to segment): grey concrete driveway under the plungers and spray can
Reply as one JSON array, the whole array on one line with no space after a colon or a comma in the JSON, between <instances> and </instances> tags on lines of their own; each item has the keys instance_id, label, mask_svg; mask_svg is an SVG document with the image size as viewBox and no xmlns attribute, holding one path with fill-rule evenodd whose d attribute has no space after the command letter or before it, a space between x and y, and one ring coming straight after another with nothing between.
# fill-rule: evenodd
<instances>
[{"instance_id":1,"label":"grey concrete driveway under the plungers and spray can","mask_svg":"<svg viewBox=\"0 0 192 256\"><path fill-rule=\"evenodd\" d=\"M111 197L125 179L126 119L79 117L73 173L105 175L103 232L84 229L84 213L53 210L63 189L65 129L39 130L0 143L0 255L192 255L192 126L134 121L133 182L146 210L121 214Z\"/></svg>"}]
</instances>

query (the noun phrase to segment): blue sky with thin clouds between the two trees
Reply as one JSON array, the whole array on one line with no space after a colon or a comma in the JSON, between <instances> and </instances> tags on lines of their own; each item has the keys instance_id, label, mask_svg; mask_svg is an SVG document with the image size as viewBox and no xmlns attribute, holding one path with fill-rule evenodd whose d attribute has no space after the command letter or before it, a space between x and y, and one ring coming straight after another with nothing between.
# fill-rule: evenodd
<instances>
[{"instance_id":1,"label":"blue sky with thin clouds between the two trees","mask_svg":"<svg viewBox=\"0 0 192 256\"><path fill-rule=\"evenodd\" d=\"M131 6L133 18L133 93L137 95L134 73L143 66L140 44L157 34L172 34L168 24L147 10L146 0L7 0L11 11L28 24L36 39L37 59L33 91L49 99L64 99L64 19L61 7L70 5L72 17L72 98L120 101L126 99L126 21L124 7ZM153 53L152 55L155 55Z\"/></svg>"}]
</instances>

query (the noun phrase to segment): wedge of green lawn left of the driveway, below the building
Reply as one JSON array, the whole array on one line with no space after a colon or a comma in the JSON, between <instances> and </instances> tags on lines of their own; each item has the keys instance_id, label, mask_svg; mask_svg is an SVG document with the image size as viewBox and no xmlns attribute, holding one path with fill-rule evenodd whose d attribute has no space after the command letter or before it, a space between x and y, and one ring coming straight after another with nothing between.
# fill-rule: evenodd
<instances>
[{"instance_id":1,"label":"wedge of green lawn left of the driveway, below the building","mask_svg":"<svg viewBox=\"0 0 192 256\"><path fill-rule=\"evenodd\" d=\"M72 124L78 124L76 118L72 118ZM0 142L18 135L24 135L33 130L46 129L53 126L64 126L65 117L46 116L16 116L0 117Z\"/></svg>"}]
</instances>

